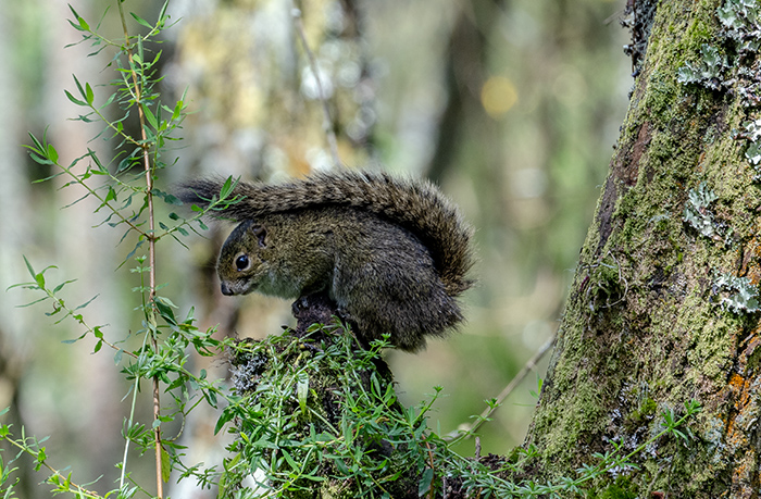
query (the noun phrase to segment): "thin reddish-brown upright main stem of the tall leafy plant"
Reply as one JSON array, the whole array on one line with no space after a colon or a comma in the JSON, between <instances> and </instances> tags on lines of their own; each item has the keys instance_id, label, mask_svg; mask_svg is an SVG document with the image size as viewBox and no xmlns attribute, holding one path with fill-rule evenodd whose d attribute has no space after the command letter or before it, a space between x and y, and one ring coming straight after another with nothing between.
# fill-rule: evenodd
<instances>
[{"instance_id":1,"label":"thin reddish-brown upright main stem of the tall leafy plant","mask_svg":"<svg viewBox=\"0 0 761 499\"><path fill-rule=\"evenodd\" d=\"M135 72L135 61L133 58L133 49L132 46L129 45L129 32L127 30L127 24L126 24L126 18L124 17L124 9L122 8L122 1L116 0L116 3L118 4L118 13L122 17L122 28L124 29L124 40L125 40L125 50L127 53L127 58L129 60L129 67L130 67L130 74L133 78L133 85L135 87L135 104L137 105L137 113L138 113L138 118L140 120L140 139L141 139L141 148L142 148L142 166L146 172L146 203L148 205L148 233L146 234L146 238L148 239L148 265L149 265L149 295L148 295L148 308L146 309L146 313L149 315L148 323L149 324L155 324L157 323L157 317L155 317L155 221L154 221L154 212L153 212L153 169L151 166L151 160L150 160L150 145L148 144L148 136L146 134L146 114L144 112L144 103L142 103L142 92L141 92L141 87L138 82L137 73ZM153 329L155 330L155 329ZM154 335L151 336L151 346L153 347L153 351L158 351L158 344L157 344L157 338ZM161 399L160 399L160 394L161 394L161 387L160 387L160 382L159 377L154 376L153 377L153 422L155 423L159 421L161 416ZM155 445L155 487L157 487L157 497L159 499L163 499L164 497L164 481L162 476L162 466L161 466L161 461L162 461L162 447L161 447L161 426L155 425L155 429L153 432L153 440Z\"/></svg>"}]
</instances>

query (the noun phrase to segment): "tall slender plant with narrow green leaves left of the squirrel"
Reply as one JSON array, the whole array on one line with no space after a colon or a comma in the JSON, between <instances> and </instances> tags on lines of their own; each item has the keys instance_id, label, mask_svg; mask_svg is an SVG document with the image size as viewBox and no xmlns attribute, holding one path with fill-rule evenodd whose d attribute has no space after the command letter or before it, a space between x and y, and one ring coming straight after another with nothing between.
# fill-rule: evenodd
<instances>
[{"instance_id":1,"label":"tall slender plant with narrow green leaves left of the squirrel","mask_svg":"<svg viewBox=\"0 0 761 499\"><path fill-rule=\"evenodd\" d=\"M173 134L180 128L186 113L184 97L173 105L166 105L161 103L157 91L160 77L155 67L161 51L154 51L153 47L159 46L158 37L169 26L167 5L165 3L161 9L155 24L132 13L132 20L137 23L138 29L147 29L147 33L129 35L123 2L117 4L125 33L122 40L102 37L98 33L100 23L91 27L91 23L70 8L73 14L70 24L82 33L80 42L89 42L96 49L91 55L100 54L107 49L114 52L107 67L112 68L116 77L111 82L110 91L105 96L100 95L98 87L83 82L77 76L74 76L75 89L65 90L67 99L82 108L82 113L74 120L100 126L92 140L108 141L112 147L111 159L104 160L93 149L87 148L86 152L72 162L62 163L58 150L48 141L47 133L41 138L30 135L32 144L26 148L34 161L49 165L54 171L50 177L40 182L64 177L62 188L73 188L82 192L74 203L93 198L97 200L95 212L104 214L99 225L108 224L112 228L124 230L121 242L133 246L126 258L121 263L114 262L114 266L121 267L126 262L135 262L135 266L129 271L139 277L139 286L133 289L136 292L135 303L129 308L139 314L142 327L134 333L125 332L123 337L118 337L118 334L107 334L105 325L92 325L86 319L85 309L97 296L71 307L63 292L64 288L76 279L61 279L51 284L50 275L58 270L53 265L37 271L24 258L32 280L11 288L25 288L41 294L41 298L23 307L41 302L52 303L51 311L46 314L55 316L55 324L72 319L82 330L78 337L64 342L73 344L90 337L93 340L93 352L101 351L103 347L110 348L116 364L122 365L124 377L132 384L129 415L125 417L122 432L124 458L116 464L121 476L116 481L117 487L104 497L127 498L137 492L151 496L146 486L132 483L127 462L130 446L136 446L140 453L154 453L158 476L162 477L158 481L157 488L159 497L162 497L163 482L169 479L171 470L180 472L182 477L195 476L201 486L211 485L210 476L213 475L213 470L185 464L184 449L176 442L176 438L163 437L162 425L175 419L185 419L201 402L216 408L220 399L226 397L221 388L222 381L208 379L203 370L191 372L188 369L188 359L190 351L200 355L219 354L224 351L227 342L214 339L213 328L199 330L195 325L192 308L184 317L178 316L178 308L172 300L157 292L161 288L155 279L160 263L155 257L157 244L164 240L178 241L178 236L187 236L197 228L205 228L200 220L205 212L194 207L194 216L190 219L186 220L172 212L167 220L158 220L157 201L163 201L170 208L179 204L174 196L155 188L154 182L161 171L171 166L164 162L164 154L169 144L177 140ZM107 117L114 115L118 117ZM139 127L135 135L127 132L125 123L128 118L137 118ZM84 171L80 163L86 163ZM233 185L232 179L226 182L219 199L212 200L210 210L236 201L229 198ZM146 383L152 386L154 394L155 409L150 423L136 420L136 396ZM163 408L159 406L158 398L162 391L165 394ZM171 400L170 404L166 403L166 396ZM73 482L71 473L64 475L52 467L48 462L46 448L40 445L45 439L26 436L23 427L16 431L10 425L0 426L0 439L15 447L20 453L32 456L36 470L45 469L49 472L46 482L51 486L53 494L100 497ZM5 463L0 467L0 491L4 492L4 497L14 497L15 482L11 479L14 471L14 467L9 467Z\"/></svg>"}]
</instances>

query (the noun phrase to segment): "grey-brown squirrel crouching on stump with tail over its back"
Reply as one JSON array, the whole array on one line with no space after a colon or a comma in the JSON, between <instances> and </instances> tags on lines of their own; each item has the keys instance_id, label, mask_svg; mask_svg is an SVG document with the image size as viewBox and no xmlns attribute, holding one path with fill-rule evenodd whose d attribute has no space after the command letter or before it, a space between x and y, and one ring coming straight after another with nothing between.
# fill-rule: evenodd
<instances>
[{"instance_id":1,"label":"grey-brown squirrel crouching on stump with tail over its back","mask_svg":"<svg viewBox=\"0 0 761 499\"><path fill-rule=\"evenodd\" d=\"M207 208L223 183L188 182L178 198ZM429 182L346 170L238 182L232 196L216 213L239 223L220 252L223 295L327 292L365 345L388 333L410 352L463 321L473 230Z\"/></svg>"}]
</instances>

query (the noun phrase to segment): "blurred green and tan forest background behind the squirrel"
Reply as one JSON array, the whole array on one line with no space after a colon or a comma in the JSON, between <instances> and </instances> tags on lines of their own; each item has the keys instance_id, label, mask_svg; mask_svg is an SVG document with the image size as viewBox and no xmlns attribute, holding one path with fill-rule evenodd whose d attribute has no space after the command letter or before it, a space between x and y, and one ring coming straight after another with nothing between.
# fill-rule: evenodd
<instances>
[{"instance_id":1,"label":"blurred green and tan forest background behind the squirrel","mask_svg":"<svg viewBox=\"0 0 761 499\"><path fill-rule=\"evenodd\" d=\"M129 0L125 8L152 21L160 3ZM71 4L91 24L116 8L104 0ZM105 157L108 141L88 144L100 128L67 121L78 110L63 90L74 87L72 74L108 84L112 54L88 58L85 45L64 49L79 34L62 0L0 0L0 409L12 406L9 417L27 434L50 435L51 461L72 465L80 482L101 474L110 482L128 412L120 367L111 353L91 354L87 341L62 344L82 333L73 322L54 325L45 305L17 308L38 297L5 288L29 279L26 255L37 270L57 265L51 278L78 279L66 288L70 303L98 295L86 315L108 324L107 335L140 327L130 291L136 276L130 264L116 270L132 245L118 245L122 233L108 225L93 228L102 216L90 200L61 209L83 192L60 189L58 180L33 185L54 172L33 163L21 146L28 130L41 136L49 126L64 163L88 146ZM160 188L212 173L274 182L329 165L292 7L290 0L171 1L179 23L158 47L161 89L174 102L187 88L194 114ZM557 329L632 85L624 7L624 0L299 3L344 163L429 177L476 227L479 285L465 297L467 324L421 354L387 355L406 404L444 387L431 421L440 432L481 413L484 399L496 397ZM102 30L121 33L114 12ZM219 295L213 262L230 228L220 224L208 240L186 239L190 250L164 245L162 292L180 314L196 307L202 325L220 324L221 334L275 334L292 324L289 302ZM483 427L482 453L506 453L523 441L546 361ZM208 369L224 376L226 365L216 360ZM214 422L209 413L184 435L198 444L194 458L208 465L221 459L221 445L210 437ZM33 475L30 483L39 479ZM25 497L47 497L37 494Z\"/></svg>"}]
</instances>

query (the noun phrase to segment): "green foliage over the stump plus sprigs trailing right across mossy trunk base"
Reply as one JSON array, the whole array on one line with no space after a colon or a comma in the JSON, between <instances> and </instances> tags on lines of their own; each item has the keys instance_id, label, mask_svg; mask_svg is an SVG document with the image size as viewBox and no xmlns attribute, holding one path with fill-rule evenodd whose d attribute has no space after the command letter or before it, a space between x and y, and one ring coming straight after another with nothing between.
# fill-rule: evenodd
<instances>
[{"instance_id":1,"label":"green foliage over the stump plus sprigs trailing right across mossy trunk base","mask_svg":"<svg viewBox=\"0 0 761 499\"><path fill-rule=\"evenodd\" d=\"M236 422L229 428L236 440L228 447L222 497L255 491L300 498L313 497L315 489L329 497L399 497L412 489L426 496L440 490L445 479L469 496L631 497L627 479L603 485L610 474L637 470L633 458L665 435L688 442L686 423L700 411L696 402L686 403L678 416L664 411L661 431L633 451L624 453L613 441L612 450L595 454L598 462L579 467L576 476L542 484L525 478L538 458L534 448L517 448L509 460L489 465L454 452L452 442L426 424L441 388L402 408L379 367L385 341L363 350L345 328L314 326L312 333L325 339L307 338L304 348L286 332L237 346L238 392L220 419Z\"/></svg>"}]
</instances>

